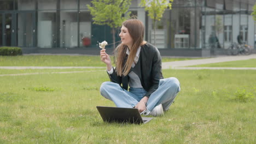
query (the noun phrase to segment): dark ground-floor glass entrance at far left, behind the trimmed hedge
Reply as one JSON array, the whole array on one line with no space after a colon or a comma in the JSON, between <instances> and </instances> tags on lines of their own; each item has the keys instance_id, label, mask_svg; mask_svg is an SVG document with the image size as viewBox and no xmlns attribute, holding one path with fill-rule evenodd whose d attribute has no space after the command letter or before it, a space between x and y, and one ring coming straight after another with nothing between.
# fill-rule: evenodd
<instances>
[{"instance_id":1,"label":"dark ground-floor glass entrance at far left, behind the trimmed hedge","mask_svg":"<svg viewBox=\"0 0 256 144\"><path fill-rule=\"evenodd\" d=\"M0 13L0 46L34 46L35 26L34 12Z\"/></svg>"}]
</instances>

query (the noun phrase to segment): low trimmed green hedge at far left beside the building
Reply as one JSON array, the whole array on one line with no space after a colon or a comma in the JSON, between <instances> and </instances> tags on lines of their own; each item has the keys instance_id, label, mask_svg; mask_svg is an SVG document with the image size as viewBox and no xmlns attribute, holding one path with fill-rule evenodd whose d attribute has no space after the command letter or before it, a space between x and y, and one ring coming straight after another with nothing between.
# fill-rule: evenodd
<instances>
[{"instance_id":1,"label":"low trimmed green hedge at far left beside the building","mask_svg":"<svg viewBox=\"0 0 256 144\"><path fill-rule=\"evenodd\" d=\"M0 47L0 56L17 56L17 55L22 55L22 51L20 47L8 47L8 46Z\"/></svg>"}]
</instances>

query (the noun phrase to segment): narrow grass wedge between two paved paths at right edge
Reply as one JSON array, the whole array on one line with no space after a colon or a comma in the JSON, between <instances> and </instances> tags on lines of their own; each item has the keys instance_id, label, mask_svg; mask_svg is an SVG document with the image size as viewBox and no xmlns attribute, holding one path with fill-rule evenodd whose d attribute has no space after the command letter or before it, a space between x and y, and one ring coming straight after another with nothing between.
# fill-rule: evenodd
<instances>
[{"instance_id":1,"label":"narrow grass wedge between two paved paths at right edge","mask_svg":"<svg viewBox=\"0 0 256 144\"><path fill-rule=\"evenodd\" d=\"M231 61L222 63L212 63L212 64L200 64L192 65L190 67L235 67L235 68L256 68L256 59L248 59L243 61Z\"/></svg>"}]
</instances>

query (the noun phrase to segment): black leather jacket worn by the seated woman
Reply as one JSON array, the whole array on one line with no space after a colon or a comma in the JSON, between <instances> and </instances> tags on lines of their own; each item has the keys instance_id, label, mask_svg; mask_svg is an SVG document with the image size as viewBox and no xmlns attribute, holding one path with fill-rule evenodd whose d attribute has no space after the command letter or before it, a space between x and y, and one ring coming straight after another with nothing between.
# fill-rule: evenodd
<instances>
[{"instance_id":1,"label":"black leather jacket worn by the seated woman","mask_svg":"<svg viewBox=\"0 0 256 144\"><path fill-rule=\"evenodd\" d=\"M158 49L149 43L142 45L138 62L131 70L138 75L142 87L147 91L144 96L150 97L158 89L159 80L163 79L162 62ZM114 70L112 74L109 74L109 78L110 81L118 83L120 86L122 84L122 87L127 90L129 82L128 75L118 76Z\"/></svg>"}]
</instances>

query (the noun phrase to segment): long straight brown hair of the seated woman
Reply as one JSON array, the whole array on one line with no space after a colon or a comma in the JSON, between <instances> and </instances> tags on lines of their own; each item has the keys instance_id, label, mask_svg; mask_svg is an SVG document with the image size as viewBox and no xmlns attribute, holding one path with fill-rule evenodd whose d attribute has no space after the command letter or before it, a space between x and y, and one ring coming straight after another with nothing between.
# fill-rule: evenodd
<instances>
[{"instance_id":1,"label":"long straight brown hair of the seated woman","mask_svg":"<svg viewBox=\"0 0 256 144\"><path fill-rule=\"evenodd\" d=\"M120 44L115 49L116 56L116 70L119 76L127 75L131 69L131 65L134 62L136 52L139 46L143 44L144 39L144 25L137 19L130 19L123 22L123 26L128 29L132 38L132 46L130 47L130 54L126 63L124 62L126 57L126 50L129 49L127 45Z\"/></svg>"}]
</instances>

